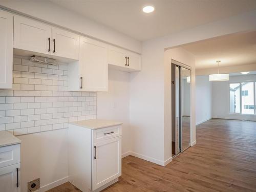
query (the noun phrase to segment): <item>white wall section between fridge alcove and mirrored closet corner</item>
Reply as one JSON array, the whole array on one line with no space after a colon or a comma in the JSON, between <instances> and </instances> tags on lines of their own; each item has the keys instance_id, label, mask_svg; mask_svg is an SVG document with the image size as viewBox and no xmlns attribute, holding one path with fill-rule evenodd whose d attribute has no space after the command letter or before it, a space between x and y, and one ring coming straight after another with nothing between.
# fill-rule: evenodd
<instances>
[{"instance_id":1,"label":"white wall section between fridge alcove and mirrored closet corner","mask_svg":"<svg viewBox=\"0 0 256 192\"><path fill-rule=\"evenodd\" d=\"M133 155L163 164L164 71L158 40L143 43L142 70L131 74L130 125Z\"/></svg>"}]
</instances>

